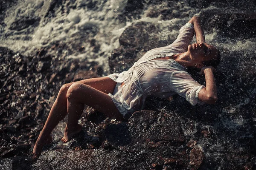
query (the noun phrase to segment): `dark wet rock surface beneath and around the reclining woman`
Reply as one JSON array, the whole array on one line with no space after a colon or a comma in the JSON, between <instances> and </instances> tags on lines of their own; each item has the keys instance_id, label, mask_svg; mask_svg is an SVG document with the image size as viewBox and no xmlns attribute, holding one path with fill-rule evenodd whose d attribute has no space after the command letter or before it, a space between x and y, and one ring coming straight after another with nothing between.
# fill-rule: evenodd
<instances>
[{"instance_id":1,"label":"dark wet rock surface beneath and around the reclining woman","mask_svg":"<svg viewBox=\"0 0 256 170\"><path fill-rule=\"evenodd\" d=\"M230 1L221 0L208 3L201 0L135 3L129 0L123 14L128 19L143 14L152 19L178 20L199 12L205 31L212 34L217 30L216 36L222 37L220 43L229 39L253 44L256 42L255 3L232 2L231 7ZM61 3L51 1L46 18L56 17L54 10ZM80 7L97 8L98 4L86 1ZM1 8L4 11L12 5L6 3ZM128 20L124 16L118 19ZM25 22L19 27L19 22L12 28L34 24ZM180 25L176 23L170 27L177 30ZM61 86L101 77L104 73L97 62L67 59L72 51L82 54L88 49L83 46L82 38L90 44L93 54L101 48L93 38L97 26L85 29L88 34L74 34L75 40L70 45L55 42L28 56L0 48L0 169L256 168L256 53L253 45L251 50L228 50L224 45L219 48L221 63L215 74L218 90L215 105L191 106L177 95L169 100L148 97L145 110L135 112L127 122L109 119L85 107L79 120L83 126L81 133L66 145L60 144L65 127L65 122L61 122L53 132L57 135L53 136L52 144L44 147L39 159L32 159L31 146ZM119 47L109 57L111 72L125 71L151 48L175 40L172 36L163 39L164 31L160 23L146 21L125 28L119 37ZM197 74L192 77L205 84L204 77Z\"/></svg>"}]
</instances>

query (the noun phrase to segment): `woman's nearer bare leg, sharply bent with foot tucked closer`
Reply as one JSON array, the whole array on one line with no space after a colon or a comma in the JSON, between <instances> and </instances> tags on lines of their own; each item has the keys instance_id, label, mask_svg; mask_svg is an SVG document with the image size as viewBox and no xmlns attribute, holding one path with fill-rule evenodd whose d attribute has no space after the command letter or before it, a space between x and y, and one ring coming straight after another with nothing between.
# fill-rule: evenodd
<instances>
[{"instance_id":1,"label":"woman's nearer bare leg, sharply bent with foot tucked closer","mask_svg":"<svg viewBox=\"0 0 256 170\"><path fill-rule=\"evenodd\" d=\"M84 105L91 106L109 117L123 119L122 114L108 94L83 83L74 83L67 91L68 121L64 137L61 139L63 142L69 141L74 134L81 130L78 120L83 112Z\"/></svg>"}]
</instances>

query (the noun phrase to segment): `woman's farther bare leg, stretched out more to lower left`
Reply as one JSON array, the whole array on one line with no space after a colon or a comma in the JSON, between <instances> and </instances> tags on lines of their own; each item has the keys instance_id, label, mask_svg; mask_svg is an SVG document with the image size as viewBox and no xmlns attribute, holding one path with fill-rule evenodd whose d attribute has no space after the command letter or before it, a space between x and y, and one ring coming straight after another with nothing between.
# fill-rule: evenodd
<instances>
[{"instance_id":1,"label":"woman's farther bare leg, stretched out more to lower left","mask_svg":"<svg viewBox=\"0 0 256 170\"><path fill-rule=\"evenodd\" d=\"M116 82L108 77L99 77L99 78L92 78L92 79L84 79L79 81L80 83L90 85L93 88L98 89L106 94L113 93L115 88ZM64 119L67 115L67 90L68 88L76 82L65 84L61 87L57 99L55 100L54 104L52 105L51 111L47 118L47 121L44 125L43 130L41 131L38 139L35 143L33 149L33 155L38 157L41 154L42 147L45 144L48 144L52 141L50 133L58 125L58 123Z\"/></svg>"}]
</instances>

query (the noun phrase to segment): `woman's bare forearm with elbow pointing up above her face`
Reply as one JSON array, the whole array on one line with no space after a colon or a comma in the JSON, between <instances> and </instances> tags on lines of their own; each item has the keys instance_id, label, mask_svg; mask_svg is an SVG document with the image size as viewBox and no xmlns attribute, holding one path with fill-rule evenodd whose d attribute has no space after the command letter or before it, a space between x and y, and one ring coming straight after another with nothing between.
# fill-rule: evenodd
<instances>
[{"instance_id":1,"label":"woman's bare forearm with elbow pointing up above her face","mask_svg":"<svg viewBox=\"0 0 256 170\"><path fill-rule=\"evenodd\" d=\"M204 30L201 26L200 18L192 17L191 20L189 20L189 23L192 23L194 25L196 42L197 43L201 43L201 42L205 43Z\"/></svg>"}]
</instances>

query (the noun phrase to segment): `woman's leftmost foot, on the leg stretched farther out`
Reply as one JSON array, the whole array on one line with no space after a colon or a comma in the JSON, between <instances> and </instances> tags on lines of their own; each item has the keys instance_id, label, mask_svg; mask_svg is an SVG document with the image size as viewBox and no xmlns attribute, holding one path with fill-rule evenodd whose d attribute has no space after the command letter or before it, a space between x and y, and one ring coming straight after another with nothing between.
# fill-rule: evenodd
<instances>
[{"instance_id":1,"label":"woman's leftmost foot, on the leg stretched farther out","mask_svg":"<svg viewBox=\"0 0 256 170\"><path fill-rule=\"evenodd\" d=\"M41 153L42 153L42 148L46 144L52 143L52 136L47 136L47 137L38 137L37 141L35 142L35 146L33 148L33 156L35 158L38 158Z\"/></svg>"}]
</instances>

